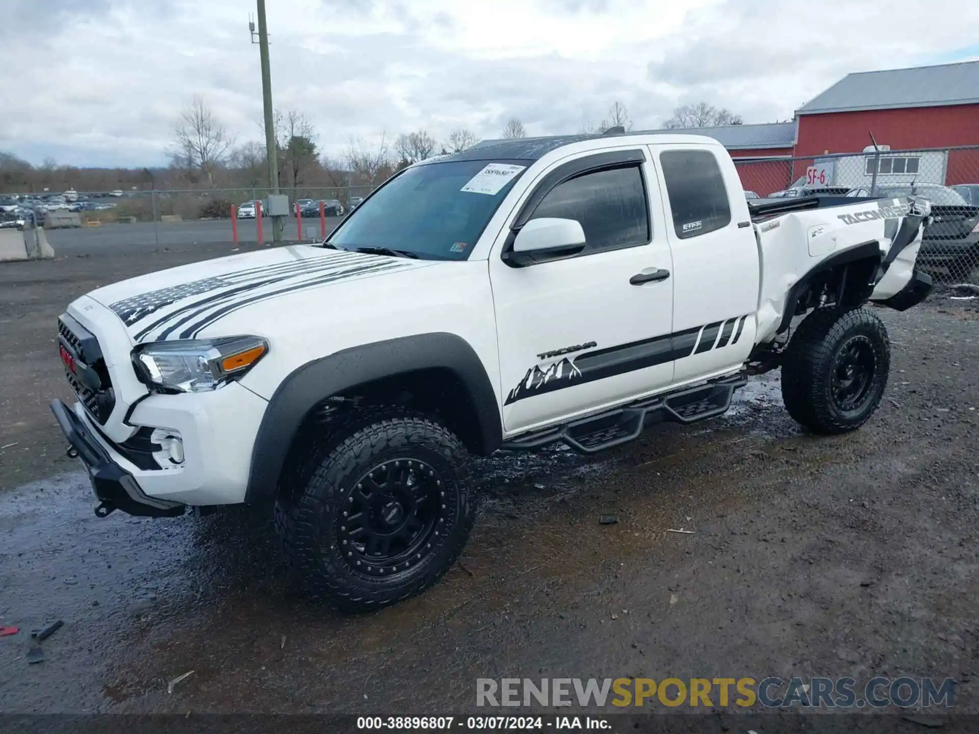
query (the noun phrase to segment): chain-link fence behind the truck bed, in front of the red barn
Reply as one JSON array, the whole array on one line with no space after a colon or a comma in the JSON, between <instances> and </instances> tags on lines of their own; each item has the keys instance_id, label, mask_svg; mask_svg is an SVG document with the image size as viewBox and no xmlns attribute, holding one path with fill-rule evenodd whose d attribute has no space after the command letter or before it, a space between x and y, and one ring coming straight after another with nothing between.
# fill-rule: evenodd
<instances>
[{"instance_id":1,"label":"chain-link fence behind the truck bed, in front of the red barn","mask_svg":"<svg viewBox=\"0 0 979 734\"><path fill-rule=\"evenodd\" d=\"M979 146L734 162L748 197L924 197L933 220L920 267L947 283L979 282Z\"/></svg>"}]
</instances>

